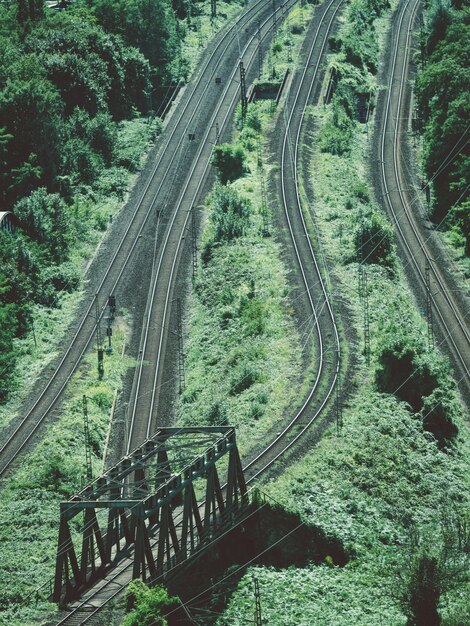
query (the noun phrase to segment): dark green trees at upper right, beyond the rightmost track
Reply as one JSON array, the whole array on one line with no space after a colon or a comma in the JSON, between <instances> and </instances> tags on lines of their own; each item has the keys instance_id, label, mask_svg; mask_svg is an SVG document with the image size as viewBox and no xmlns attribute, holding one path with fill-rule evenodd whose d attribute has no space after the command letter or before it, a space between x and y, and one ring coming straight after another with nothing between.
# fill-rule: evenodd
<instances>
[{"instance_id":1,"label":"dark green trees at upper right, beyond the rightmost track","mask_svg":"<svg viewBox=\"0 0 470 626\"><path fill-rule=\"evenodd\" d=\"M470 252L470 218L467 173L470 165L467 132L470 104L470 24L465 10L451 9L441 2L428 8L427 56L416 81L418 108L424 130L424 170L432 180L432 217L445 220L464 239L464 254ZM446 167L450 154L452 159ZM439 173L436 176L436 173Z\"/></svg>"}]
</instances>

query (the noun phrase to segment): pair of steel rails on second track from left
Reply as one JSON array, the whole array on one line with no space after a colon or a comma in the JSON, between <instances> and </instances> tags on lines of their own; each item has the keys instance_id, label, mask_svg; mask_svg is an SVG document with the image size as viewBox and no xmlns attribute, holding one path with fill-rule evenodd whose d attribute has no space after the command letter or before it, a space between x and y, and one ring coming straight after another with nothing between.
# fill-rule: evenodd
<instances>
[{"instance_id":1,"label":"pair of steel rails on second track from left","mask_svg":"<svg viewBox=\"0 0 470 626\"><path fill-rule=\"evenodd\" d=\"M288 0L287 2L285 2L281 7L278 7L276 9L276 12L284 10L284 8L287 7L290 8L290 6L294 5L296 3L297 0ZM261 29L265 28L267 26L267 29L264 33L262 33L262 38L263 40L266 38L266 36L271 32L271 21L272 21L272 15L270 15L261 25ZM243 51L240 51L241 54L241 59L243 60L245 54L247 54L248 50L250 49L250 47L252 47L253 45L255 45L255 49L252 50L250 57L248 59L248 66L250 66L253 63L253 60L255 59L256 55L257 55L257 46L258 43L258 34L255 33L253 34L248 42L246 43L246 45L243 48ZM245 59L246 61L246 59ZM154 336L150 336L150 330L152 328L152 326L155 325L155 321L152 317L152 311L155 305L155 299L157 297L157 295L159 297L162 297L163 294L161 294L160 292L158 292L157 287L159 286L159 276L162 270L162 264L163 264L163 260L164 260L164 255L166 253L167 247L169 245L169 241L170 238L174 235L173 232L173 227L175 225L176 219L178 217L179 211L184 203L185 200L185 194L188 191L188 188L192 182L193 176L194 176L194 172L196 170L196 168L200 165L201 162L201 156L202 153L205 149L207 149L207 140L209 137L209 133L210 133L210 129L212 128L212 125L215 123L215 120L217 119L217 115L219 114L220 110L226 106L226 103L224 102L224 98L227 96L227 94L229 93L230 89L233 89L233 81L234 78L236 76L238 72L238 67L233 68L229 79L227 80L227 84L224 90L224 94L223 97L219 100L218 106L217 108L213 111L212 116L211 116L211 120L210 123L208 125L208 129L206 130L204 137L201 141L198 153L196 158L193 161L193 166L188 174L188 177L186 179L186 182L183 186L183 189L181 191L178 203L176 205L176 209L173 213L172 216L172 220L171 223L167 229L167 234L166 234L166 238L165 241L161 247L160 250L160 254L159 254L159 261L158 261L158 266L156 268L155 271L155 277L153 279L153 284L152 284L152 289L151 289L151 293L150 293L150 297L149 297L149 305L148 305L148 310L149 313L147 314L147 321L145 324L145 328L143 331L143 339L142 339L142 343L140 346L140 350L139 350L139 366L138 366L138 373L137 373L137 377L134 383L134 389L133 389L133 403L132 403L132 409L131 409L131 413L128 419L130 419L130 426L129 426L129 431L128 431L128 435L127 435L127 448L126 448L126 454L129 453L130 449L135 447L136 445L138 445L139 442L134 441L133 440L133 433L134 433L134 426L135 426L135 422L136 422L136 415L138 413L138 401L139 401L139 397L140 397L140 389L141 389L141 382L142 382L142 375L143 375L143 369L144 369L144 364L146 363L146 361L148 359L146 359L146 350L147 347L149 346L149 342L153 342L155 341L155 337ZM234 94L232 96L231 102L229 103L229 106L225 112L225 115L223 117L222 123L221 123L221 128L223 128L229 117L232 115L233 112L233 108L234 105L236 103L236 101L238 100L238 87L235 88ZM204 169L199 177L197 186L195 191L193 192L190 200L188 201L188 205L190 207L192 207L196 201L197 198L200 194L201 191L201 187L203 185L203 183L205 182L205 178L207 175L207 171L209 169L210 166L210 155L208 155L207 160L205 162L204 165ZM186 218L183 222L183 224L180 227L179 233L177 234L177 243L176 243L176 250L173 254L173 261L171 264L171 268L170 268L170 275L168 278L168 282L167 282L167 287L166 287L166 291L164 294L164 309L163 309L163 316L162 316L162 321L159 324L159 338L158 338L158 349L157 349L157 355L156 355L156 361L155 361L155 368L154 368L154 372L155 374L152 376L152 393L151 393L151 401L150 401L150 407L147 413L147 428L146 428L146 438L148 438L150 436L151 430L152 430L152 420L153 420L153 413L154 413L154 406L155 406L155 400L156 400L156 394L157 394L157 388L158 388L158 381L159 381L159 376L160 376L160 369L161 367L163 367L162 365L162 358L163 358L163 344L166 338L166 322L167 322L167 315L168 315L168 311L170 308L170 300L171 300L171 293L173 291L173 287L174 287L174 275L176 272L176 268L177 268L177 262L179 259L179 255L181 252L181 246L185 237L185 233L187 230L187 224L189 221L189 217L190 217L190 212L187 211L186 212ZM142 418L142 416L140 416L140 418Z\"/></svg>"}]
</instances>

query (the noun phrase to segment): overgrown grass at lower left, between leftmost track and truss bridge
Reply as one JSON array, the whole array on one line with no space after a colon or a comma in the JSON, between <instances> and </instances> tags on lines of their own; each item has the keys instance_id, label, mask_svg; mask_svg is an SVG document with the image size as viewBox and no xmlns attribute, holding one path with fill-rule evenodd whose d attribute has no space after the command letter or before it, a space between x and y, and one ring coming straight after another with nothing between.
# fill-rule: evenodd
<instances>
[{"instance_id":1,"label":"overgrown grass at lower left, between leftmost track and truss bridge","mask_svg":"<svg viewBox=\"0 0 470 626\"><path fill-rule=\"evenodd\" d=\"M96 354L90 354L70 383L69 399L60 417L0 491L0 624L43 623L54 612L54 605L44 600L48 588L39 599L28 596L54 575L60 501L86 482L83 395L88 398L94 476L103 470L103 446L114 394L132 365L131 359L122 356L126 335L127 324L118 318L113 329L113 353L105 356L104 379L97 379ZM77 518L72 524L75 531L80 523ZM28 600L23 603L25 598Z\"/></svg>"}]
</instances>

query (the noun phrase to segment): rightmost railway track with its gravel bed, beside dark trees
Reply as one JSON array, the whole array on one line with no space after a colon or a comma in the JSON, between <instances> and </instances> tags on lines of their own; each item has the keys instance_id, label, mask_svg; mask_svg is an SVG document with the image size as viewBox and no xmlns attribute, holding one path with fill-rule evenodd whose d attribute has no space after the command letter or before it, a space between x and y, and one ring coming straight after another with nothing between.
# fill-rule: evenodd
<instances>
[{"instance_id":1,"label":"rightmost railway track with its gravel bed, beside dark trees","mask_svg":"<svg viewBox=\"0 0 470 626\"><path fill-rule=\"evenodd\" d=\"M441 263L442 254L429 223L416 210L420 198L413 191L415 181L406 163L406 133L411 112L408 74L418 9L419 0L403 2L393 23L388 89L376 129L380 193L395 225L409 281L423 310L427 297L430 298L436 338L439 345L447 346L462 395L470 404L468 303L464 297L458 297L445 262Z\"/></svg>"}]
</instances>

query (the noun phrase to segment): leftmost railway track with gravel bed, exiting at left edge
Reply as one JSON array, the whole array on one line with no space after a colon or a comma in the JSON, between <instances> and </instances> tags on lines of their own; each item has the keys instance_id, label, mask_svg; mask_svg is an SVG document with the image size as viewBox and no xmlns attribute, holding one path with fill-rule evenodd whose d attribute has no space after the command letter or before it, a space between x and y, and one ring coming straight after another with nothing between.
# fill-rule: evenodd
<instances>
[{"instance_id":1,"label":"leftmost railway track with gravel bed, exiting at left edge","mask_svg":"<svg viewBox=\"0 0 470 626\"><path fill-rule=\"evenodd\" d=\"M196 136L203 135L203 130L208 128L211 112L218 106L225 82L225 79L221 80L221 87L217 87L215 79L230 75L233 60L238 57L239 46L245 45L249 39L246 30L248 25L253 25L256 18L266 19L268 15L272 15L272 3L268 0L259 0L247 7L236 24L218 37L202 67L186 88L159 141L156 160L149 166L143 186L128 207L130 211L127 212L131 212L131 215L127 218L119 243L112 245L108 237L107 243L101 247L101 254L106 259L104 272L96 278L92 266L88 273L88 298L71 341L44 388L25 409L20 422L4 433L5 439L0 448L0 478L7 474L23 450L32 445L31 442L41 425L59 406L68 382L93 342L96 299L101 305L98 310L102 317L105 310L103 303L108 295L115 293L119 298L123 279L130 272L132 263L135 263L142 240L150 238L153 245L153 240L158 236L155 241L158 249L166 237L168 224L172 223L174 215L167 207L176 202L178 187L185 179L184 172L193 167L198 155L198 142L189 142L188 134L191 132ZM157 215L158 220L155 219ZM155 221L157 228L154 230Z\"/></svg>"}]
</instances>

